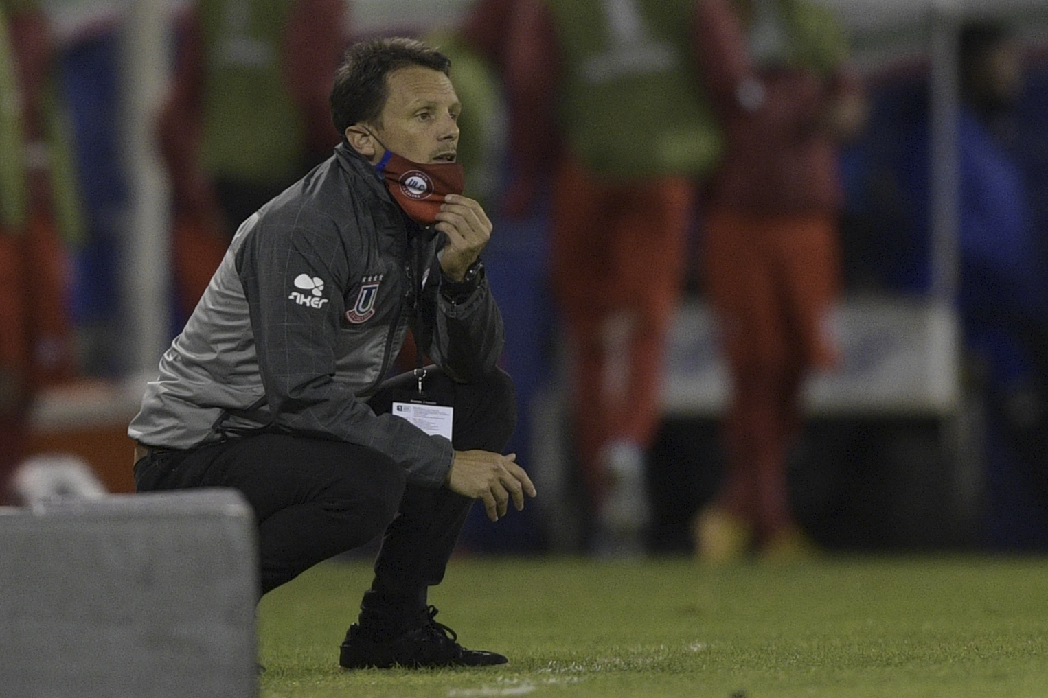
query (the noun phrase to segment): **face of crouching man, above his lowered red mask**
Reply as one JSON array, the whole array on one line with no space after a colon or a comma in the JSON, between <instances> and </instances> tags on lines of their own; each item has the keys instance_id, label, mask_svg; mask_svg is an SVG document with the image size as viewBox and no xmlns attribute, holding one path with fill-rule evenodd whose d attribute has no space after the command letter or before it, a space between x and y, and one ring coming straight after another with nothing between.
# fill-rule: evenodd
<instances>
[{"instance_id":1,"label":"face of crouching man, above his lowered red mask","mask_svg":"<svg viewBox=\"0 0 1048 698\"><path fill-rule=\"evenodd\" d=\"M386 75L386 84L389 95L372 125L381 145L415 162L453 162L461 105L447 75L408 66ZM378 146L372 162L383 154Z\"/></svg>"}]
</instances>

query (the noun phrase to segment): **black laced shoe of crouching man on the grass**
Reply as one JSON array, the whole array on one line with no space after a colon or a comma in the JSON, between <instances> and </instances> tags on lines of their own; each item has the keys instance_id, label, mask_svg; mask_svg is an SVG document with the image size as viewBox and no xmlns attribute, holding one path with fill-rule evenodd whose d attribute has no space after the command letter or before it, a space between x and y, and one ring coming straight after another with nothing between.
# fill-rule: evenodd
<instances>
[{"instance_id":1,"label":"black laced shoe of crouching man on the grass","mask_svg":"<svg viewBox=\"0 0 1048 698\"><path fill-rule=\"evenodd\" d=\"M389 640L369 639L355 623L346 633L339 663L344 669L425 669L429 667L490 667L508 661L501 654L483 650L467 650L455 640L458 635L433 616L437 609L429 609L425 625L409 630Z\"/></svg>"}]
</instances>

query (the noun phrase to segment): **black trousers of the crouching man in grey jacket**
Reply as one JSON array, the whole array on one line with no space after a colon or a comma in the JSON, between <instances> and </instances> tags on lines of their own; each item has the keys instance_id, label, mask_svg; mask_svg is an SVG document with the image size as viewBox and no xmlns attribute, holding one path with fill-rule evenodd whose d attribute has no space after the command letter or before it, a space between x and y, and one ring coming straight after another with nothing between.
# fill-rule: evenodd
<instances>
[{"instance_id":1,"label":"black trousers of the crouching man in grey jacket","mask_svg":"<svg viewBox=\"0 0 1048 698\"><path fill-rule=\"evenodd\" d=\"M410 373L387 380L370 399L372 409L389 412L392 392L414 385ZM456 450L502 451L517 421L508 375L496 371L456 384L431 369L425 387L454 399ZM405 471L377 451L283 434L154 452L135 464L134 476L138 492L234 487L243 493L259 526L262 593L385 529L362 623L369 612L381 624L424 613L427 590L443 579L473 504L446 487L407 484Z\"/></svg>"}]
</instances>

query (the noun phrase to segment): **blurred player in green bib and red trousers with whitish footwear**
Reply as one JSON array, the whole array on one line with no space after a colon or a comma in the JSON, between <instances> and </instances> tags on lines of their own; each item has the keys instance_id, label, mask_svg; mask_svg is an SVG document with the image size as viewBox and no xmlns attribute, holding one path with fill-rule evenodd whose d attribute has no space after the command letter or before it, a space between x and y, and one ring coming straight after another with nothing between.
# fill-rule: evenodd
<instances>
[{"instance_id":1,"label":"blurred player in green bib and red trousers with whitish footwear","mask_svg":"<svg viewBox=\"0 0 1048 698\"><path fill-rule=\"evenodd\" d=\"M696 181L720 134L696 70L695 0L481 0L463 28L505 83L508 214L552 189L551 274L598 551L649 523L646 452Z\"/></svg>"}]
</instances>

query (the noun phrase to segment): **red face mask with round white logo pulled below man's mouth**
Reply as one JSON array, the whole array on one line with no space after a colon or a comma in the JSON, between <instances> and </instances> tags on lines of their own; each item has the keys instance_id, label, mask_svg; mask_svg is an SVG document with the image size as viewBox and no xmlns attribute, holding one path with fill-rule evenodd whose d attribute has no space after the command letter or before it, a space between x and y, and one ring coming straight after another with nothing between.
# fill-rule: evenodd
<instances>
[{"instance_id":1,"label":"red face mask with round white logo pulled below man's mouth","mask_svg":"<svg viewBox=\"0 0 1048 698\"><path fill-rule=\"evenodd\" d=\"M461 194L465 188L465 173L459 162L423 165L387 150L375 169L405 213L422 225L437 221L445 195Z\"/></svg>"}]
</instances>

